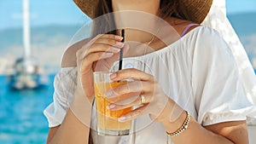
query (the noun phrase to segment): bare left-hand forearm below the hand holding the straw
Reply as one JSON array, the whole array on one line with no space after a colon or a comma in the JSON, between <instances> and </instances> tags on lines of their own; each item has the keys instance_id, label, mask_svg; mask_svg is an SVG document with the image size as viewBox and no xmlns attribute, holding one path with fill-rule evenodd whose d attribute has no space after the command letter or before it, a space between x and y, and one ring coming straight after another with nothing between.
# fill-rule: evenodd
<instances>
[{"instance_id":1,"label":"bare left-hand forearm below the hand holding the straw","mask_svg":"<svg viewBox=\"0 0 256 144\"><path fill-rule=\"evenodd\" d=\"M76 93L73 104L67 111L62 124L49 130L47 144L85 144L89 142L91 101L84 101L86 99L80 96L84 95ZM79 112L74 106L82 107L80 109L83 109L83 112Z\"/></svg>"}]
</instances>

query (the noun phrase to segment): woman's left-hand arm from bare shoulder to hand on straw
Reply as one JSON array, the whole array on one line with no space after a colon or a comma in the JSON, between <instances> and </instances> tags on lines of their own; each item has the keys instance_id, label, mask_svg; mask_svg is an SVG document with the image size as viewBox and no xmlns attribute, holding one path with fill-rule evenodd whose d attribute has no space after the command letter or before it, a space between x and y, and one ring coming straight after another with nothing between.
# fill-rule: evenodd
<instances>
[{"instance_id":1,"label":"woman's left-hand arm from bare shoulder to hand on straw","mask_svg":"<svg viewBox=\"0 0 256 144\"><path fill-rule=\"evenodd\" d=\"M125 43L120 42L122 38L111 34L98 35L90 42L84 40L73 45L73 49L69 49L64 55L62 67L77 66L76 91L73 103L61 125L49 130L47 143L86 144L89 142L91 106L94 98L92 74L96 64L99 65L97 70L101 71L100 68L118 60L119 51L125 46ZM127 49L125 47L125 51ZM101 62L96 62L98 60Z\"/></svg>"}]
</instances>

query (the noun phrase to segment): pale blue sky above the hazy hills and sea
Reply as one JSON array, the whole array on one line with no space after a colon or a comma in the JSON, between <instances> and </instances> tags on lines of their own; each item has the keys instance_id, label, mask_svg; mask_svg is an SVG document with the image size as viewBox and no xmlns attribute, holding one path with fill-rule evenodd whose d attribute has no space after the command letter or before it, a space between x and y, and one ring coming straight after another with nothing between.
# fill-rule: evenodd
<instances>
[{"instance_id":1,"label":"pale blue sky above the hazy hills and sea","mask_svg":"<svg viewBox=\"0 0 256 144\"><path fill-rule=\"evenodd\" d=\"M256 0L226 0L228 14L256 12ZM31 25L82 24L85 16L72 0L30 0ZM22 25L22 0L0 0L0 30Z\"/></svg>"}]
</instances>

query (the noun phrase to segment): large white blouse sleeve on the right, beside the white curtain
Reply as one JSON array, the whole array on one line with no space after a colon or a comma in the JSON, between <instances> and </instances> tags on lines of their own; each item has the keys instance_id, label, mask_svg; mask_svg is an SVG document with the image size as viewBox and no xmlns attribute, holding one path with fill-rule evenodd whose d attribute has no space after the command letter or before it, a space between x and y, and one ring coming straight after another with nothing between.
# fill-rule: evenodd
<instances>
[{"instance_id":1,"label":"large white blouse sleeve on the right, beside the white curtain","mask_svg":"<svg viewBox=\"0 0 256 144\"><path fill-rule=\"evenodd\" d=\"M241 84L234 55L218 32L204 27L192 43L192 87L202 125L245 120L255 110Z\"/></svg>"}]
</instances>

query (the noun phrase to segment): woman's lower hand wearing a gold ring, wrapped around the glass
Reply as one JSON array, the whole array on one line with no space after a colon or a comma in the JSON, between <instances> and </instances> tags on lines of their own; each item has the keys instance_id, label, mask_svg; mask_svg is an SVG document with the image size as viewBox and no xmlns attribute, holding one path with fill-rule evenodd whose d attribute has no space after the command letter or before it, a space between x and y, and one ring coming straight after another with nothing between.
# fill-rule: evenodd
<instances>
[{"instance_id":1,"label":"woman's lower hand wearing a gold ring, wrapped around the glass","mask_svg":"<svg viewBox=\"0 0 256 144\"><path fill-rule=\"evenodd\" d=\"M166 107L170 108L174 105L174 102L169 100L154 77L148 73L137 69L124 69L113 73L110 78L113 81L129 78L134 80L115 87L105 94L110 101L113 101L113 103L108 106L110 110L115 111L127 107L141 106L123 115L119 118L119 121L131 120L144 114L149 114L150 118L153 120L162 121L166 117L163 110ZM131 97L133 97L133 100L131 100ZM128 98L131 101L127 102ZM169 109L169 112L170 111L172 111L172 109Z\"/></svg>"}]
</instances>

